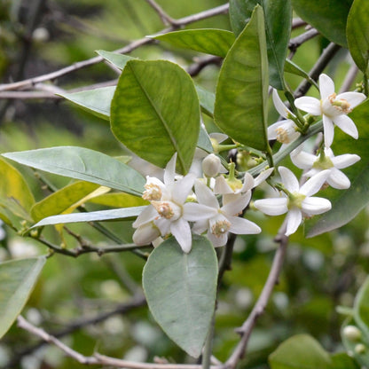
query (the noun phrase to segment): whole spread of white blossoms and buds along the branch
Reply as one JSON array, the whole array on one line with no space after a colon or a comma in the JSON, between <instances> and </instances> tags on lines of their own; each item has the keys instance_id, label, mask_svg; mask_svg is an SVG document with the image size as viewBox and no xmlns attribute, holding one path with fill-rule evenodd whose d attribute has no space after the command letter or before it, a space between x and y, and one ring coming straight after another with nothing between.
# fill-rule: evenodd
<instances>
[{"instance_id":1,"label":"whole spread of white blossoms and buds along the branch","mask_svg":"<svg viewBox=\"0 0 369 369\"><path fill-rule=\"evenodd\" d=\"M291 153L291 159L304 176L309 177L303 185L290 169L279 167L281 182L276 183L279 197L255 201L255 208L269 216L287 213L286 235L294 233L302 223L304 216L322 214L331 208L329 200L312 197L327 183L338 189L349 188L349 178L340 169L349 167L360 158L354 154L334 157L330 145L334 139L334 124L350 136L357 138L357 129L346 115L360 104L365 95L358 92L334 93L334 82L327 76L319 78L321 99L297 98L294 104L308 114L323 117L325 146L315 155L306 153L298 147ZM283 104L276 90L273 101L277 111L285 120L272 124L268 129L269 139L277 139L282 147L301 136L296 114ZM217 137L213 146L224 140ZM215 138L212 137L214 141ZM217 151L217 150L216 150ZM229 175L224 172L219 157L209 154L202 160L202 172L205 178L198 178L190 171L185 177L176 175L175 154L164 170L163 182L156 177L146 177L143 198L150 202L137 217L133 227L137 228L133 240L137 245L153 243L157 245L163 237L172 234L185 253L191 251L192 232L207 232L214 247L224 246L228 233L255 234L261 232L258 225L240 216L247 208L251 191L260 185L273 172L273 168L264 170L258 177L246 172L243 180L235 177L235 164L229 164ZM197 170L198 171L198 170Z\"/></svg>"}]
</instances>

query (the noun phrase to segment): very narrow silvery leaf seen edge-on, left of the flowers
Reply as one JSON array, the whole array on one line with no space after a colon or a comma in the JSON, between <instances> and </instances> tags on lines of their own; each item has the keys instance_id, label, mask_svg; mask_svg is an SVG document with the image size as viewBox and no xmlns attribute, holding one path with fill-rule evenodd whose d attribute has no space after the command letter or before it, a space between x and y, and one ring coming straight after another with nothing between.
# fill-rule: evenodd
<instances>
[{"instance_id":1,"label":"very narrow silvery leaf seen edge-on, left of the flowers","mask_svg":"<svg viewBox=\"0 0 369 369\"><path fill-rule=\"evenodd\" d=\"M82 223L82 222L101 222L105 220L118 220L138 216L146 208L114 208L112 210L90 211L89 213L62 214L59 216L48 216L36 223L32 228L42 227L43 225Z\"/></svg>"}]
</instances>

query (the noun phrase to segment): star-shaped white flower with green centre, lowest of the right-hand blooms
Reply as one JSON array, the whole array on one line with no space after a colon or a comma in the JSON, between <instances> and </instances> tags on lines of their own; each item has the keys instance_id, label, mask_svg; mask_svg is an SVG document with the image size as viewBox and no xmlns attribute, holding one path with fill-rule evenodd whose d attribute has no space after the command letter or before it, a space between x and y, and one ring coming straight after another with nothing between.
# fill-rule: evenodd
<instances>
[{"instance_id":1,"label":"star-shaped white flower with green centre, lowest of the right-hand blooms","mask_svg":"<svg viewBox=\"0 0 369 369\"><path fill-rule=\"evenodd\" d=\"M324 170L311 177L301 188L291 170L279 167L279 174L288 195L283 193L282 197L279 198L256 200L255 208L263 211L268 216L280 216L288 212L285 234L289 236L301 224L302 216L315 216L331 209L329 200L311 197L326 182L329 171Z\"/></svg>"}]
</instances>

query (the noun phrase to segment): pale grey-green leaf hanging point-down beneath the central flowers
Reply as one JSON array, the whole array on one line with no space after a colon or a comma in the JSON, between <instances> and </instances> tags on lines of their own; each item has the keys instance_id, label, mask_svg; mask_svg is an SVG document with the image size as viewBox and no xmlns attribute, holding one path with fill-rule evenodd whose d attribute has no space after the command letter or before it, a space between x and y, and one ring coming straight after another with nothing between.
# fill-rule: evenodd
<instances>
[{"instance_id":1,"label":"pale grey-green leaf hanging point-down beneath the central flowers","mask_svg":"<svg viewBox=\"0 0 369 369\"><path fill-rule=\"evenodd\" d=\"M170 339L199 357L216 302L217 260L208 239L193 236L185 254L174 238L153 250L143 285L153 318Z\"/></svg>"}]
</instances>

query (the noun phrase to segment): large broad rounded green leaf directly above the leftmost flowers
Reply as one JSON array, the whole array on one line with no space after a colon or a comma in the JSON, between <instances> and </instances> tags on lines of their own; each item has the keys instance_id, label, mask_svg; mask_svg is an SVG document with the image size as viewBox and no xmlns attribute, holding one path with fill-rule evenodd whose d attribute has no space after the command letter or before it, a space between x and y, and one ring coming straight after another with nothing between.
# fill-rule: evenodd
<instances>
[{"instance_id":1,"label":"large broad rounded green leaf directly above the leftmost flowers","mask_svg":"<svg viewBox=\"0 0 369 369\"><path fill-rule=\"evenodd\" d=\"M124 145L161 168L177 152L177 165L186 173L200 130L191 77L166 60L130 60L115 90L111 125Z\"/></svg>"}]
</instances>

